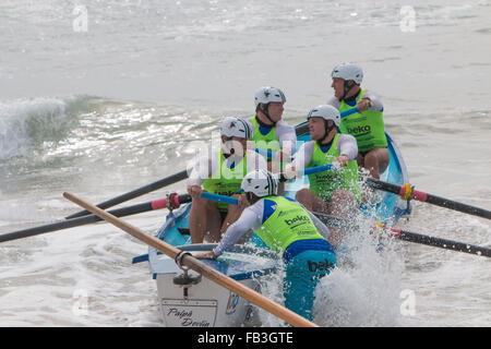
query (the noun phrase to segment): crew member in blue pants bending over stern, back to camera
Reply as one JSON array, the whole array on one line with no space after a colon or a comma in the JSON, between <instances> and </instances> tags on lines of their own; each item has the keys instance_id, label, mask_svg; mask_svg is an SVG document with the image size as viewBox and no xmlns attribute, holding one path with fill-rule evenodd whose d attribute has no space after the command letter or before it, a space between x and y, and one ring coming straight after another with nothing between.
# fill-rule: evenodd
<instances>
[{"instance_id":1,"label":"crew member in blue pants bending over stern, back to camera","mask_svg":"<svg viewBox=\"0 0 491 349\"><path fill-rule=\"evenodd\" d=\"M218 245L196 257L216 258L250 229L285 263L285 306L312 320L314 291L319 279L336 265L336 254L327 242L330 230L298 202L277 195L278 181L264 170L248 173L241 189L251 206L231 225Z\"/></svg>"}]
</instances>

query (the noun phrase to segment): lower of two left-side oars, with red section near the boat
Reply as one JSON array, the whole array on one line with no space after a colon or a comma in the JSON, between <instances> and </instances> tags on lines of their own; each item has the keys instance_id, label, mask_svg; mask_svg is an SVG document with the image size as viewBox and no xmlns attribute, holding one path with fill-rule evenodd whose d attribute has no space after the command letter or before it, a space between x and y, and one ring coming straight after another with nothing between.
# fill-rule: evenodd
<instances>
[{"instance_id":1,"label":"lower of two left-side oars, with red section near the boat","mask_svg":"<svg viewBox=\"0 0 491 349\"><path fill-rule=\"evenodd\" d=\"M136 215L140 213L149 212L149 210L154 210L154 209L160 209L160 208L169 208L169 207L178 208L180 206L180 204L184 204L184 203L189 203L189 202L191 202L191 195L170 194L168 197L165 197L165 198L154 200L154 201L149 201L149 202L146 202L143 204L136 204L136 205L132 205L132 206L128 206L128 207L112 209L109 213L116 217L124 217L124 216ZM28 229L22 229L22 230L0 234L0 242L12 241L12 240L38 236L38 234L41 234L45 232L84 226L84 225L100 221L100 220L101 219L95 215L61 220L61 221L52 222L49 225L44 225L44 226L39 226L39 227L33 227L33 228L28 228Z\"/></svg>"}]
</instances>

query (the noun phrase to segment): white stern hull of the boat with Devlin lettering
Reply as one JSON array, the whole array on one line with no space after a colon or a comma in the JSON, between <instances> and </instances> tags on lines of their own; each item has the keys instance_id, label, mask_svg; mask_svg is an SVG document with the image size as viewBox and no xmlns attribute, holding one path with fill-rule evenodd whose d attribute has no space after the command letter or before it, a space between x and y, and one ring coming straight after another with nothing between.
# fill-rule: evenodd
<instances>
[{"instance_id":1,"label":"white stern hull of the boat with Devlin lettering","mask_svg":"<svg viewBox=\"0 0 491 349\"><path fill-rule=\"evenodd\" d=\"M214 245L180 246L192 254ZM248 248L247 252L226 252L217 261L206 261L220 273L258 292L260 278L276 270L276 255L271 251ZM243 249L243 248L242 248ZM261 252L250 254L251 251ZM249 252L249 253L248 253ZM254 306L244 298L201 277L183 270L173 260L151 251L148 262L157 284L158 302L167 327L240 327L258 326Z\"/></svg>"}]
</instances>

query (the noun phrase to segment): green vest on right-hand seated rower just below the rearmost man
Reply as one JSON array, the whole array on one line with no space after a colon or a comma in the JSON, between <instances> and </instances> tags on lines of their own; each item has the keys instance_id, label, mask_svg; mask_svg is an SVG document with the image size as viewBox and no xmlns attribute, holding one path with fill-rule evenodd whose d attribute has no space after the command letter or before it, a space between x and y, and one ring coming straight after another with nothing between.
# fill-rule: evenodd
<instances>
[{"instance_id":1,"label":"green vest on right-hand seated rower just below the rearmost man","mask_svg":"<svg viewBox=\"0 0 491 349\"><path fill-rule=\"evenodd\" d=\"M322 152L318 142L315 142L312 160L308 165L308 168L333 164L333 160L340 156L336 147L337 139L339 139L339 133L336 133L334 136L327 153ZM361 191L358 184L358 165L356 160L349 161L348 166L336 171L327 170L309 174L309 181L310 190L324 200L331 200L336 190L347 190L354 193L358 201L361 201Z\"/></svg>"}]
</instances>

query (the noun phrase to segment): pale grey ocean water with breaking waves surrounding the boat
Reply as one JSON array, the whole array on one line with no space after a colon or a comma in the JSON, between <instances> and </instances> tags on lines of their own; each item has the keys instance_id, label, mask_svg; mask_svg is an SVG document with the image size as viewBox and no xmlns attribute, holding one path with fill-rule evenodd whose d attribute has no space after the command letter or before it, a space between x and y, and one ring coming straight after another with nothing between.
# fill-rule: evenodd
<instances>
[{"instance_id":1,"label":"pale grey ocean water with breaking waves surrounding the boat","mask_svg":"<svg viewBox=\"0 0 491 349\"><path fill-rule=\"evenodd\" d=\"M280 87L284 119L303 121L344 61L382 96L411 184L491 209L490 20L487 0L4 0L0 233L79 210L64 191L98 203L184 169L224 117L253 115L260 86ZM165 215L127 220L155 232ZM489 220L424 203L398 227L491 245ZM489 258L362 241L321 282L318 324L491 325ZM106 224L1 243L0 325L163 326L147 266L131 265L145 252Z\"/></svg>"}]
</instances>

